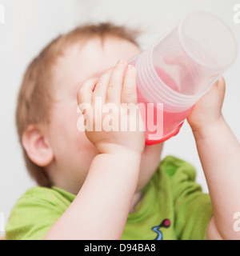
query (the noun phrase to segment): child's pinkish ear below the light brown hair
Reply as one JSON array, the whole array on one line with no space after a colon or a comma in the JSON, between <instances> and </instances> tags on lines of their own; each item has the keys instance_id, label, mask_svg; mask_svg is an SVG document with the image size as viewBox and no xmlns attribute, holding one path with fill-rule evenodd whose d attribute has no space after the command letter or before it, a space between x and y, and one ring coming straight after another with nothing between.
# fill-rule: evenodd
<instances>
[{"instance_id":1,"label":"child's pinkish ear below the light brown hair","mask_svg":"<svg viewBox=\"0 0 240 256\"><path fill-rule=\"evenodd\" d=\"M38 166L47 166L54 159L49 142L36 125L27 126L22 134L22 145L30 160Z\"/></svg>"}]
</instances>

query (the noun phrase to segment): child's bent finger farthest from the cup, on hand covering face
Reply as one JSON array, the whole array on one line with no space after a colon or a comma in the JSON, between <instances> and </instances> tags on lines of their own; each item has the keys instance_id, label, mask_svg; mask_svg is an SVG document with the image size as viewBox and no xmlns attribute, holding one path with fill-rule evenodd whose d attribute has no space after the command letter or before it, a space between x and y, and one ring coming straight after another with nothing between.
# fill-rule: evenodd
<instances>
[{"instance_id":1,"label":"child's bent finger farthest from the cup, on hand covering face","mask_svg":"<svg viewBox=\"0 0 240 256\"><path fill-rule=\"evenodd\" d=\"M82 110L83 104L91 104L92 103L92 94L94 90L94 86L98 78L90 78L86 80L78 90L77 99L78 99L78 106L80 110Z\"/></svg>"}]
</instances>

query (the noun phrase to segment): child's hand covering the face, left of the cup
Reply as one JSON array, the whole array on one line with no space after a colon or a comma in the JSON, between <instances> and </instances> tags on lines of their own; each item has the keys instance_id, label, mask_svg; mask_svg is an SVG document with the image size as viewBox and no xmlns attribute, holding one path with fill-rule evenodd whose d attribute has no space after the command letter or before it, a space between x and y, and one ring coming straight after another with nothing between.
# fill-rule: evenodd
<instances>
[{"instance_id":1,"label":"child's hand covering the face, left of the cup","mask_svg":"<svg viewBox=\"0 0 240 256\"><path fill-rule=\"evenodd\" d=\"M124 107L128 103L133 107L131 110ZM132 150L142 154L145 135L137 103L136 70L127 66L126 61L119 61L99 79L83 83L78 90L78 106L84 114L86 136L99 153ZM130 120L134 120L133 131L128 126ZM127 130L122 131L124 127Z\"/></svg>"}]
</instances>

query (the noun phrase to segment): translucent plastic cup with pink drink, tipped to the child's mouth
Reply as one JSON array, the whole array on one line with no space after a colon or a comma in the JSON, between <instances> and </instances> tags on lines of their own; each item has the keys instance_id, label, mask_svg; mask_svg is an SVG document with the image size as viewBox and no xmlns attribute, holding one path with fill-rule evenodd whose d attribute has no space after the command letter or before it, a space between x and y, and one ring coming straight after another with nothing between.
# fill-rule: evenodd
<instances>
[{"instance_id":1,"label":"translucent plastic cup with pink drink, tipped to the child's mouth","mask_svg":"<svg viewBox=\"0 0 240 256\"><path fill-rule=\"evenodd\" d=\"M157 124L162 132L146 127L146 145L178 134L194 104L234 63L237 51L234 34L221 19L192 12L130 60L137 69L138 102L163 104L163 110L155 107L153 118L147 120L155 122L157 111L163 111L163 123Z\"/></svg>"}]
</instances>

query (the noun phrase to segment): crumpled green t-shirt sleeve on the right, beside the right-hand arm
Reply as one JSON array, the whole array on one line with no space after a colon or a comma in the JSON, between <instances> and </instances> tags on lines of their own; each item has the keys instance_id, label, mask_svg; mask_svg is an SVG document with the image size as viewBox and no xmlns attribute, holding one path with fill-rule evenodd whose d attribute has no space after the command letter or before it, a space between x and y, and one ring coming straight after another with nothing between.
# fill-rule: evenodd
<instances>
[{"instance_id":1,"label":"crumpled green t-shirt sleeve on the right, beside the right-hand arm","mask_svg":"<svg viewBox=\"0 0 240 256\"><path fill-rule=\"evenodd\" d=\"M167 157L162 164L174 197L174 229L179 240L205 240L213 216L210 195L195 182L196 171L182 159Z\"/></svg>"}]
</instances>

